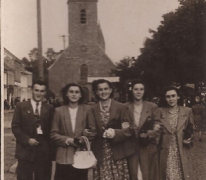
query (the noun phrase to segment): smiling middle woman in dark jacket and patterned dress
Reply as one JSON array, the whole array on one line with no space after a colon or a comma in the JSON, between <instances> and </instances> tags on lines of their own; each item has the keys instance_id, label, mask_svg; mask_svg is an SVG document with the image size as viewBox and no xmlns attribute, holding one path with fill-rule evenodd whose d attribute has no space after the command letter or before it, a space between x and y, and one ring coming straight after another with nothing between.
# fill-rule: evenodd
<instances>
[{"instance_id":1,"label":"smiling middle woman in dark jacket and patterned dress","mask_svg":"<svg viewBox=\"0 0 206 180\"><path fill-rule=\"evenodd\" d=\"M99 79L92 87L98 103L88 113L85 135L93 138L91 149L97 158L94 180L129 180L126 157L136 149L126 106L111 99L113 87L109 81Z\"/></svg>"}]
</instances>

